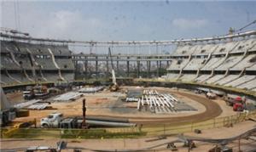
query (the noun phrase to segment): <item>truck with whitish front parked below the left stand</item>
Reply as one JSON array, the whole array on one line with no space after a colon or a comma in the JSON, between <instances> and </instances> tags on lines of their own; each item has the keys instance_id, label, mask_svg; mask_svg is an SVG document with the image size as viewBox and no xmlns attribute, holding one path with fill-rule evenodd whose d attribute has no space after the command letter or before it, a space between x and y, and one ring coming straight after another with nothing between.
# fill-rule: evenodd
<instances>
[{"instance_id":1,"label":"truck with whitish front parked below the left stand","mask_svg":"<svg viewBox=\"0 0 256 152\"><path fill-rule=\"evenodd\" d=\"M27 86L26 90L23 91L24 99L40 99L49 94L46 86L36 85L34 87Z\"/></svg>"}]
</instances>

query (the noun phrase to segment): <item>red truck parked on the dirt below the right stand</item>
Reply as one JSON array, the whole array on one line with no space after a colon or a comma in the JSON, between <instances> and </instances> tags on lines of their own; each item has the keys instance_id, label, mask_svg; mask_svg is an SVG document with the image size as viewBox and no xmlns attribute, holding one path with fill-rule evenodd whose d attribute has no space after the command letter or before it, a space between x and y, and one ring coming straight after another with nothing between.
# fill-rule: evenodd
<instances>
[{"instance_id":1,"label":"red truck parked on the dirt below the right stand","mask_svg":"<svg viewBox=\"0 0 256 152\"><path fill-rule=\"evenodd\" d=\"M226 104L233 107L234 111L242 111L245 109L245 104L246 104L245 99L242 99L239 96L236 98L227 96L224 98L224 100L225 100Z\"/></svg>"}]
</instances>

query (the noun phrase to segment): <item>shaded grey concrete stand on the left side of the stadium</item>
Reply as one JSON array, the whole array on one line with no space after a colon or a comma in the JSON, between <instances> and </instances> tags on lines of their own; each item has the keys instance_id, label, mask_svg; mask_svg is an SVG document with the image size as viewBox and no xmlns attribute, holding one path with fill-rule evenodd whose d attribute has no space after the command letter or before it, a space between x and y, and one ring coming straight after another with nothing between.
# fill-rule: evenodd
<instances>
[{"instance_id":1,"label":"shaded grey concrete stand on the left side of the stadium","mask_svg":"<svg viewBox=\"0 0 256 152\"><path fill-rule=\"evenodd\" d=\"M1 41L2 85L35 81L72 82L73 70L67 46Z\"/></svg>"}]
</instances>

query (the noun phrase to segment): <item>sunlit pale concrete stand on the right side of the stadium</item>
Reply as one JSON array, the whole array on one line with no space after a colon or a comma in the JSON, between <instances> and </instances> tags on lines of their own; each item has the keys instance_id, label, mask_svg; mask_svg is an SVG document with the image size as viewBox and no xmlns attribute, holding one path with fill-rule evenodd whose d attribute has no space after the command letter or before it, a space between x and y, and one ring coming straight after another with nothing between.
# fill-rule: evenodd
<instances>
[{"instance_id":1,"label":"sunlit pale concrete stand on the right side of the stadium","mask_svg":"<svg viewBox=\"0 0 256 152\"><path fill-rule=\"evenodd\" d=\"M172 53L177 59L167 68L166 79L207 83L225 87L256 90L256 39L239 37L225 42L196 44L187 42ZM174 71L179 70L179 74Z\"/></svg>"}]
</instances>

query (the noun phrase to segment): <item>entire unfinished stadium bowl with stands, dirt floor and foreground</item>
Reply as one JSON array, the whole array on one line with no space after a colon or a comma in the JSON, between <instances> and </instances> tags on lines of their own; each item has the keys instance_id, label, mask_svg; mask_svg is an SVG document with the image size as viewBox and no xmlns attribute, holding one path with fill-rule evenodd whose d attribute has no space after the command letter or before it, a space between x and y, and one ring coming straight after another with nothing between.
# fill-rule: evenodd
<instances>
[{"instance_id":1,"label":"entire unfinished stadium bowl with stands, dirt floor and foreground","mask_svg":"<svg viewBox=\"0 0 256 152\"><path fill-rule=\"evenodd\" d=\"M103 42L4 29L0 83L1 151L256 150L256 31Z\"/></svg>"}]
</instances>

